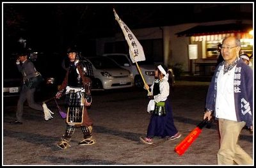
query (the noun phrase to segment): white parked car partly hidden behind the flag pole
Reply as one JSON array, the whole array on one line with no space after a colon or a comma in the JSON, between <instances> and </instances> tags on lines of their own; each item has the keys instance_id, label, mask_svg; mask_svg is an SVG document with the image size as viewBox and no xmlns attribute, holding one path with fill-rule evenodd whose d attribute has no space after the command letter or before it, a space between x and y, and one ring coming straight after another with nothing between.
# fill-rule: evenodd
<instances>
[{"instance_id":1,"label":"white parked car partly hidden behind the flag pole","mask_svg":"<svg viewBox=\"0 0 256 168\"><path fill-rule=\"evenodd\" d=\"M119 66L129 70L132 73L133 84L132 86L136 86L137 88L143 88L144 82L141 79L141 75L138 72L137 66L135 63L132 63L130 57L127 54L103 54L102 56L109 57L113 59ZM155 66L154 65L141 65L138 62L141 73L145 82L148 85L152 85L155 80Z\"/></svg>"}]
</instances>

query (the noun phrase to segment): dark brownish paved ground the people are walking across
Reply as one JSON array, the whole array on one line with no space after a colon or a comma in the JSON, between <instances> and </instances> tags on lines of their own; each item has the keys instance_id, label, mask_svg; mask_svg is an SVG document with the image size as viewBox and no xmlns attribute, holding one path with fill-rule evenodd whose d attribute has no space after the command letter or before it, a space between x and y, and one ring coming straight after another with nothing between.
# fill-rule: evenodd
<instances>
[{"instance_id":1,"label":"dark brownish paved ground the people are walking across","mask_svg":"<svg viewBox=\"0 0 256 168\"><path fill-rule=\"evenodd\" d=\"M204 128L190 148L179 156L174 148L202 121L204 101L209 82L177 81L171 102L175 125L180 139L165 141L155 138L154 144L139 142L147 133L150 115L147 114L147 92L122 89L93 93L88 110L93 119L92 146L79 146L83 134L80 128L72 136L71 148L60 149L56 142L65 131L53 102L47 103L54 112L51 121L44 121L41 112L25 107L23 125L10 125L15 105L3 105L3 162L2 165L216 165L219 148L217 124ZM40 99L40 98L39 98ZM59 101L61 109L63 100ZM240 146L253 157L253 134L243 129Z\"/></svg>"}]
</instances>

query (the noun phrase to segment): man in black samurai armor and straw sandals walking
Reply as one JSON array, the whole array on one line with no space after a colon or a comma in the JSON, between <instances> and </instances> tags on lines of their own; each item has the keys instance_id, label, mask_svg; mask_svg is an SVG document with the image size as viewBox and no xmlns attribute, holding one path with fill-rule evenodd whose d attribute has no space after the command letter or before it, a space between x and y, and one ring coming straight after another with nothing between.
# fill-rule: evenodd
<instances>
[{"instance_id":1,"label":"man in black samurai armor and straw sandals walking","mask_svg":"<svg viewBox=\"0 0 256 168\"><path fill-rule=\"evenodd\" d=\"M92 65L79 57L77 50L69 48L67 50L70 65L68 66L65 79L63 80L56 98L66 95L67 103L67 128L65 134L57 146L61 149L70 147L70 139L77 127L81 127L83 140L79 145L92 145L95 140L92 137L93 123L89 118L86 107L92 103Z\"/></svg>"}]
</instances>

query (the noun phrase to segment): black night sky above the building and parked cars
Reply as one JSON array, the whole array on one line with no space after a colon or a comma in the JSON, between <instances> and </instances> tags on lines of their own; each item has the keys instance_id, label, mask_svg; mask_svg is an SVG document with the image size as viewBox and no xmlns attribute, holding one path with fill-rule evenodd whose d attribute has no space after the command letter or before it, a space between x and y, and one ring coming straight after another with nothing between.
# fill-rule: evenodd
<instances>
[{"instance_id":1,"label":"black night sky above the building and parked cars","mask_svg":"<svg viewBox=\"0 0 256 168\"><path fill-rule=\"evenodd\" d=\"M113 8L130 29L136 29L225 20L234 17L230 11L239 4L4 3L4 49L13 49L20 37L40 50L58 52L74 43L90 49L95 38L122 32ZM252 13L236 13L239 17L250 18Z\"/></svg>"}]
</instances>

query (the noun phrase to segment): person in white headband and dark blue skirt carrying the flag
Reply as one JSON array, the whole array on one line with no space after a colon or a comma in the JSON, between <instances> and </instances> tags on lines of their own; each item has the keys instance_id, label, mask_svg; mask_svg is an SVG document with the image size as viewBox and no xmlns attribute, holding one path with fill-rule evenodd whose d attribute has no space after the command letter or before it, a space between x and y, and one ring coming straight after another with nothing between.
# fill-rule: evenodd
<instances>
[{"instance_id":1,"label":"person in white headband and dark blue skirt carrying the flag","mask_svg":"<svg viewBox=\"0 0 256 168\"><path fill-rule=\"evenodd\" d=\"M173 122L172 106L169 102L169 82L168 68L159 65L155 71L156 80L150 86L148 97L148 112L151 113L150 123L147 129L147 137L140 137L140 141L145 144L153 144L153 137L166 138L168 141L178 139L181 134ZM145 89L148 89L145 85Z\"/></svg>"}]
</instances>

